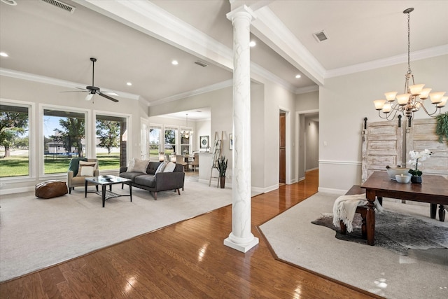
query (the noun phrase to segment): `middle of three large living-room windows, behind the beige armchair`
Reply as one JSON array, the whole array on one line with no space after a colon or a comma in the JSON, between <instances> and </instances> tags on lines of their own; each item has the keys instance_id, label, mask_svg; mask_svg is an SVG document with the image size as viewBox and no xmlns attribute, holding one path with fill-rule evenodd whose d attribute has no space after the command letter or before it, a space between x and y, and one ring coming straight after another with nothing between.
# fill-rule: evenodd
<instances>
[{"instance_id":1,"label":"middle of three large living-room windows, behind the beige armchair","mask_svg":"<svg viewBox=\"0 0 448 299\"><path fill-rule=\"evenodd\" d=\"M44 174L66 172L72 157L85 157L85 113L43 110Z\"/></svg>"}]
</instances>

